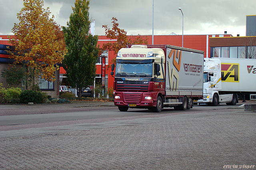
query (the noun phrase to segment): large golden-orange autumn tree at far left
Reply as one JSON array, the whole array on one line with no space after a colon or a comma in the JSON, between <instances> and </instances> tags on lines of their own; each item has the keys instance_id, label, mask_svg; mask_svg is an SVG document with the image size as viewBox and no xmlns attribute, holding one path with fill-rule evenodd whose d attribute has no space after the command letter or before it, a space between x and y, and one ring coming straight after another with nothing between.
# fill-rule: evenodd
<instances>
[{"instance_id":1,"label":"large golden-orange autumn tree at far left","mask_svg":"<svg viewBox=\"0 0 256 170\"><path fill-rule=\"evenodd\" d=\"M18 24L14 24L12 33L15 38L10 57L15 63L26 65L27 89L34 89L38 78L55 81L56 64L62 63L66 45L60 26L49 18L49 8L44 9L42 0L23 0L24 7L17 14Z\"/></svg>"}]
</instances>

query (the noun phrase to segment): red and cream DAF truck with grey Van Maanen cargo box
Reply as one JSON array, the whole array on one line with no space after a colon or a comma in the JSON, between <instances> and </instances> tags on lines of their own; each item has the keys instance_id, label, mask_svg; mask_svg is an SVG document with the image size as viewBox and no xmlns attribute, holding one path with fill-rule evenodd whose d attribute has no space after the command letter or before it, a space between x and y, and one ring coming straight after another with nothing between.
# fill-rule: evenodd
<instances>
[{"instance_id":1,"label":"red and cream DAF truck with grey Van Maanen cargo box","mask_svg":"<svg viewBox=\"0 0 256 170\"><path fill-rule=\"evenodd\" d=\"M203 96L204 52L172 45L128 45L112 64L114 105L186 110ZM115 73L114 73L115 69Z\"/></svg>"}]
</instances>

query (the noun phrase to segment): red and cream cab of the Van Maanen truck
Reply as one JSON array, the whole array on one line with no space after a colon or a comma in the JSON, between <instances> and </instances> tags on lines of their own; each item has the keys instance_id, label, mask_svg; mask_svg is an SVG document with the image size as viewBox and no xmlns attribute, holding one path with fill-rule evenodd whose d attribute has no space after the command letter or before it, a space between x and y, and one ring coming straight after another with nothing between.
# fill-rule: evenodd
<instances>
[{"instance_id":1,"label":"red and cream cab of the Van Maanen truck","mask_svg":"<svg viewBox=\"0 0 256 170\"><path fill-rule=\"evenodd\" d=\"M122 48L116 57L114 104L120 111L127 111L128 107L154 108L158 94L165 93L164 51L146 45L131 48L132 53Z\"/></svg>"}]
</instances>

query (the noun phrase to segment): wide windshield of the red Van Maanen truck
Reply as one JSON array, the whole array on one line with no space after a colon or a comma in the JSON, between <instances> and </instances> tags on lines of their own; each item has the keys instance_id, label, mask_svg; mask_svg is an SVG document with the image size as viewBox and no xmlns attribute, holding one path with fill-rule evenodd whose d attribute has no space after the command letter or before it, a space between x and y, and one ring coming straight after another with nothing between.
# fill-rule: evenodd
<instances>
[{"instance_id":1,"label":"wide windshield of the red Van Maanen truck","mask_svg":"<svg viewBox=\"0 0 256 170\"><path fill-rule=\"evenodd\" d=\"M116 77L152 77L153 63L116 63Z\"/></svg>"}]
</instances>

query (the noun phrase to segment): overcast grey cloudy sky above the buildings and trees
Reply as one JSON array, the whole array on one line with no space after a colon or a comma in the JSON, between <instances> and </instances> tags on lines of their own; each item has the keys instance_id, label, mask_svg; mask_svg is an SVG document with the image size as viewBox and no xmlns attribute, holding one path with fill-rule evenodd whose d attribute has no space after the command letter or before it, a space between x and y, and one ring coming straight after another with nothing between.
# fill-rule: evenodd
<instances>
[{"instance_id":1,"label":"overcast grey cloudy sky above the buildings and trees","mask_svg":"<svg viewBox=\"0 0 256 170\"><path fill-rule=\"evenodd\" d=\"M75 0L44 0L55 21L66 26ZM153 0L90 0L90 18L95 20L95 34L105 35L102 25L112 27L118 19L119 28L127 35L152 34ZM12 35L17 13L23 0L0 0L0 35ZM245 36L246 15L256 15L255 0L154 0L154 35L174 32L182 35L228 34Z\"/></svg>"}]
</instances>

